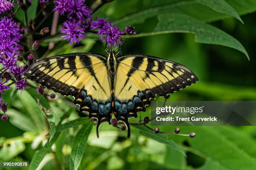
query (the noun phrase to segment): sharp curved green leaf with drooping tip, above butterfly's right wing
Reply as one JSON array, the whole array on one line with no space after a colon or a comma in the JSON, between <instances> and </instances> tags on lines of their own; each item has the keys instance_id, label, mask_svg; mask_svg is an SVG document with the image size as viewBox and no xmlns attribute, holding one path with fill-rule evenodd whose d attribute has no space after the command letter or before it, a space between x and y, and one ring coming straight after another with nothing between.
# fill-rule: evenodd
<instances>
[{"instance_id":1,"label":"sharp curved green leaf with drooping tip, above butterfly's right wing","mask_svg":"<svg viewBox=\"0 0 256 170\"><path fill-rule=\"evenodd\" d=\"M125 37L141 37L147 35L156 35L164 33L183 32L195 34L195 42L223 45L243 52L249 59L249 56L243 45L231 35L203 23L195 18L181 14L160 15L159 23L154 32L130 35Z\"/></svg>"}]
</instances>

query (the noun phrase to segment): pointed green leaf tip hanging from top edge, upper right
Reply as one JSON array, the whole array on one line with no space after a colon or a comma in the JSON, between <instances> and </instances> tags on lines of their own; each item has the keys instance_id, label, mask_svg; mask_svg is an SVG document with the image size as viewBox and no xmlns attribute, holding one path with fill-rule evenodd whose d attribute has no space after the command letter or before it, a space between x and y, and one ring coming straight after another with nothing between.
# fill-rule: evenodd
<instances>
[{"instance_id":1,"label":"pointed green leaf tip hanging from top edge, upper right","mask_svg":"<svg viewBox=\"0 0 256 170\"><path fill-rule=\"evenodd\" d=\"M215 10L219 13L231 15L243 23L236 10L231 7L225 0L195 0L195 2L210 7L212 10Z\"/></svg>"}]
</instances>

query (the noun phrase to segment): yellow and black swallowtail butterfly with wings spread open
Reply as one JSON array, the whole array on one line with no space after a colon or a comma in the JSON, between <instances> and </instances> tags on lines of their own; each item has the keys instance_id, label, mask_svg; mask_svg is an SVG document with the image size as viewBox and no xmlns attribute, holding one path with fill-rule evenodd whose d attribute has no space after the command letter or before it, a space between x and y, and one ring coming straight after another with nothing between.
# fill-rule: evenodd
<instances>
[{"instance_id":1,"label":"yellow and black swallowtail butterfly with wings spread open","mask_svg":"<svg viewBox=\"0 0 256 170\"><path fill-rule=\"evenodd\" d=\"M184 65L150 55L108 56L72 53L45 58L33 63L25 77L58 92L72 95L81 112L97 121L97 136L102 122L112 114L125 123L130 137L129 117L146 111L156 96L169 97L198 81Z\"/></svg>"}]
</instances>

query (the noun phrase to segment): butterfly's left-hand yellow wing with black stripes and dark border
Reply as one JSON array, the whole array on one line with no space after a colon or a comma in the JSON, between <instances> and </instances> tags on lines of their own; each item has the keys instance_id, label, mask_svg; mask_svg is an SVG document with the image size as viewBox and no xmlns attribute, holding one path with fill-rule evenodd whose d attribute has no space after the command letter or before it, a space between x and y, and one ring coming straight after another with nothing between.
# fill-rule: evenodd
<instances>
[{"instance_id":1,"label":"butterfly's left-hand yellow wing with black stripes and dark border","mask_svg":"<svg viewBox=\"0 0 256 170\"><path fill-rule=\"evenodd\" d=\"M107 74L104 56L74 53L39 60L28 68L25 76L62 95L74 96L80 111L97 118L98 113L111 112L112 90Z\"/></svg>"}]
</instances>

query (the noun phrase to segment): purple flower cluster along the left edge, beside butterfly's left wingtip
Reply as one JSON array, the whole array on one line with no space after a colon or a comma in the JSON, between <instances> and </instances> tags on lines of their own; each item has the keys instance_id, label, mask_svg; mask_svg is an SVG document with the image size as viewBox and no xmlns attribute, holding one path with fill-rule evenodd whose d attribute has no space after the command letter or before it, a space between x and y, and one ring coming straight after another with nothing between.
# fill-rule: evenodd
<instances>
[{"instance_id":1,"label":"purple flower cluster along the left edge, beside butterfly's left wingtip","mask_svg":"<svg viewBox=\"0 0 256 170\"><path fill-rule=\"evenodd\" d=\"M0 12L11 10L13 7L12 2L2 0L0 2ZM11 5L10 5L11 4ZM22 38L22 29L12 19L6 16L0 18L0 64L2 69L0 70L0 92L5 94L5 90L10 86L7 84L11 77L14 78L17 90L24 90L26 86L26 80L21 76L24 74L25 67L18 66L18 56L23 55L24 47L18 45ZM9 83L10 84L10 83ZM0 105L3 98L0 98ZM2 104L1 109L7 109L8 104ZM3 106L3 108L2 108Z\"/></svg>"}]
</instances>

